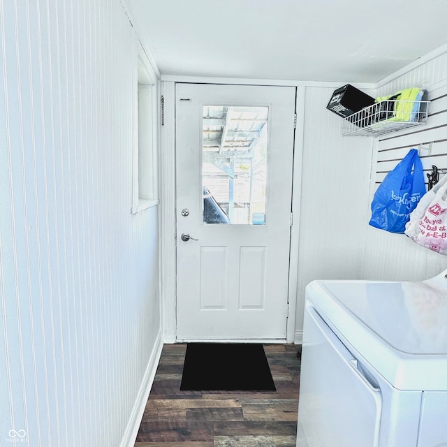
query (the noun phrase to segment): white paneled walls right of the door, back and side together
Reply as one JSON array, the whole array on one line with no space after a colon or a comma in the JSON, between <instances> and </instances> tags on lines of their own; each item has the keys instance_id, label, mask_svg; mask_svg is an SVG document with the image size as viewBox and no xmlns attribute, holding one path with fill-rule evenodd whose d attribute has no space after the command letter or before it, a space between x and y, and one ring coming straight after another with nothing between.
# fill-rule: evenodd
<instances>
[{"instance_id":1,"label":"white paneled walls right of the door, back and side together","mask_svg":"<svg viewBox=\"0 0 447 447\"><path fill-rule=\"evenodd\" d=\"M432 165L447 171L446 73L444 47L379 82L376 89L360 88L371 96L408 87L428 91L426 125L377 138L342 137L341 119L325 110L333 89L306 87L295 342L302 337L305 286L313 279L411 281L447 269L447 256L368 225L377 186L409 149L421 145L426 181Z\"/></svg>"}]
</instances>

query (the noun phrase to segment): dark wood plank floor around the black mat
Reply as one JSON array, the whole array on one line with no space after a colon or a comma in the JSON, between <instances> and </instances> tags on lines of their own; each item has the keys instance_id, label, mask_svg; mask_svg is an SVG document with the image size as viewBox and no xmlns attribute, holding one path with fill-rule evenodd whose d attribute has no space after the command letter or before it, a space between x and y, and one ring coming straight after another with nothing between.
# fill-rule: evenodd
<instances>
[{"instance_id":1,"label":"dark wood plank floor around the black mat","mask_svg":"<svg viewBox=\"0 0 447 447\"><path fill-rule=\"evenodd\" d=\"M295 447L300 346L265 344L276 391L180 391L186 344L166 344L135 447Z\"/></svg>"}]
</instances>

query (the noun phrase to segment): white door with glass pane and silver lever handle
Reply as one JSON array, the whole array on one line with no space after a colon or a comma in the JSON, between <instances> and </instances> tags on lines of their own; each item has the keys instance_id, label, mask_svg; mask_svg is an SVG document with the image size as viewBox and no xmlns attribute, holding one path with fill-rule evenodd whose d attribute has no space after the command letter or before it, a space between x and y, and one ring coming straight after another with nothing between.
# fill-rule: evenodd
<instances>
[{"instance_id":1,"label":"white door with glass pane and silver lever handle","mask_svg":"<svg viewBox=\"0 0 447 447\"><path fill-rule=\"evenodd\" d=\"M294 114L294 87L177 85L177 340L286 339Z\"/></svg>"}]
</instances>

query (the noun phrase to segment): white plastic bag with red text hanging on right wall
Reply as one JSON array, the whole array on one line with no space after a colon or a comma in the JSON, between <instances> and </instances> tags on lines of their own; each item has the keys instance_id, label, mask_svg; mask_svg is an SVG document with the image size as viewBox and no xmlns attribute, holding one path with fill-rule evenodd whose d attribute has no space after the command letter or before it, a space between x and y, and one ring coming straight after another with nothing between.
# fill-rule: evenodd
<instances>
[{"instance_id":1,"label":"white plastic bag with red text hanging on right wall","mask_svg":"<svg viewBox=\"0 0 447 447\"><path fill-rule=\"evenodd\" d=\"M405 234L416 244L447 254L447 175L420 199L406 223Z\"/></svg>"}]
</instances>

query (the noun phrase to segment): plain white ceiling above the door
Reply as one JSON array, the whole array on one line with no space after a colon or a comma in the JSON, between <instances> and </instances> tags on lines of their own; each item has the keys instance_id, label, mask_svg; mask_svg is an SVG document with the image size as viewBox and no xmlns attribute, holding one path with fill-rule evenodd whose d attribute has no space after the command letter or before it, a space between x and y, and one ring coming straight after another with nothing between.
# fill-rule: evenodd
<instances>
[{"instance_id":1,"label":"plain white ceiling above the door","mask_svg":"<svg viewBox=\"0 0 447 447\"><path fill-rule=\"evenodd\" d=\"M162 74L377 82L447 43L447 0L124 0Z\"/></svg>"}]
</instances>

